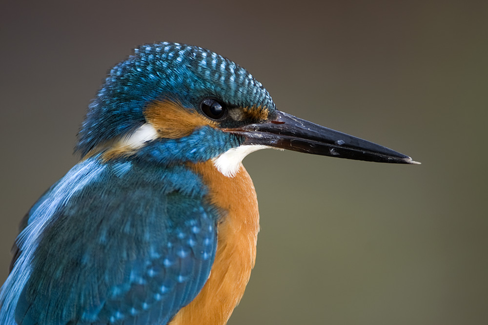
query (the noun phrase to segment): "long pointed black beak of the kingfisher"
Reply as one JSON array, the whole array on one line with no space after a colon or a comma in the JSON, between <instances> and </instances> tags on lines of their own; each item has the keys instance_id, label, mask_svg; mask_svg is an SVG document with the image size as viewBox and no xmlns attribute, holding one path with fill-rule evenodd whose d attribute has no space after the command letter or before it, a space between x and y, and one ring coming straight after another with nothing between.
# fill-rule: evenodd
<instances>
[{"instance_id":1,"label":"long pointed black beak of the kingfisher","mask_svg":"<svg viewBox=\"0 0 488 325\"><path fill-rule=\"evenodd\" d=\"M262 123L225 131L243 135L247 145L374 162L419 164L405 154L280 111L275 118Z\"/></svg>"}]
</instances>

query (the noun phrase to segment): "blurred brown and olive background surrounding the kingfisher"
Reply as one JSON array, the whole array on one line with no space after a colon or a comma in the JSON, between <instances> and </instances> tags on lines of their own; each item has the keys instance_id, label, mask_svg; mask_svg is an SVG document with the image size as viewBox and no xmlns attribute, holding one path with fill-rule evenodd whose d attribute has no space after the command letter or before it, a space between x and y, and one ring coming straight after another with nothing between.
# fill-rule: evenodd
<instances>
[{"instance_id":1,"label":"blurred brown and olive background surrounding the kingfisher","mask_svg":"<svg viewBox=\"0 0 488 325\"><path fill-rule=\"evenodd\" d=\"M64 2L2 3L1 283L105 73L168 40L244 66L280 110L422 162L247 157L261 232L229 325L488 324L487 1Z\"/></svg>"}]
</instances>

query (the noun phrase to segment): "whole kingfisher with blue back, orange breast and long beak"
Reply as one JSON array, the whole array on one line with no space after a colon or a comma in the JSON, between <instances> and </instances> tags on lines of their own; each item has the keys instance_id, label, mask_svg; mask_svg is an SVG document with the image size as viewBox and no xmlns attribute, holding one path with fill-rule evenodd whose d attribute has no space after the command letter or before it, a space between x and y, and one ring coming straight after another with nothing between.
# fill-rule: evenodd
<instances>
[{"instance_id":1,"label":"whole kingfisher with blue back, orange breast and long beak","mask_svg":"<svg viewBox=\"0 0 488 325\"><path fill-rule=\"evenodd\" d=\"M79 163L20 222L0 324L226 324L259 231L242 160L265 148L417 164L279 111L247 70L210 50L136 48L88 105Z\"/></svg>"}]
</instances>

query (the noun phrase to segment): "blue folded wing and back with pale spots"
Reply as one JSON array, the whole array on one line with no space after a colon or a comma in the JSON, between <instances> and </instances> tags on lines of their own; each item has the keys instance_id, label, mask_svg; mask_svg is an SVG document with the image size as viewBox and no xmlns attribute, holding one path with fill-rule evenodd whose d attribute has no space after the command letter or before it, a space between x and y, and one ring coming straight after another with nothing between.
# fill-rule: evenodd
<instances>
[{"instance_id":1,"label":"blue folded wing and back with pale spots","mask_svg":"<svg viewBox=\"0 0 488 325\"><path fill-rule=\"evenodd\" d=\"M24 222L0 323L166 324L215 257L218 213L205 192L184 167L77 165Z\"/></svg>"}]
</instances>

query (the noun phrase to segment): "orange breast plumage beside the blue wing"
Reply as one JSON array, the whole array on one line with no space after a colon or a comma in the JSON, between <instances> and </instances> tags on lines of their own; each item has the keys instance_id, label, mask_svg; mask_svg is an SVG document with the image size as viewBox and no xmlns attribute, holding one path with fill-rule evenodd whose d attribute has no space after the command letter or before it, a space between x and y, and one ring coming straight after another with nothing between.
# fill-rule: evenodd
<instances>
[{"instance_id":1,"label":"orange breast plumage beside the blue wing","mask_svg":"<svg viewBox=\"0 0 488 325\"><path fill-rule=\"evenodd\" d=\"M218 227L218 245L210 277L199 295L170 325L224 325L241 300L256 259L258 201L243 166L233 178L211 161L192 165L208 184L213 204L227 211Z\"/></svg>"}]
</instances>

